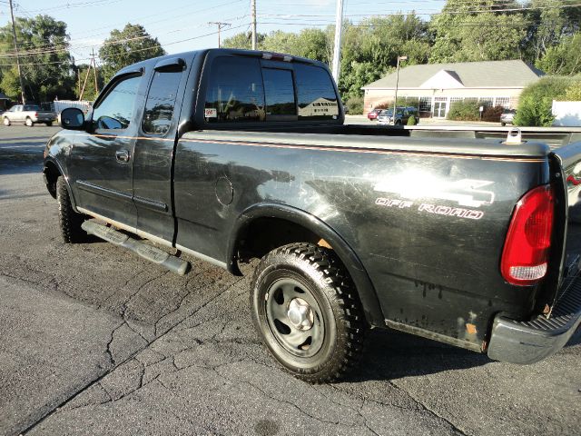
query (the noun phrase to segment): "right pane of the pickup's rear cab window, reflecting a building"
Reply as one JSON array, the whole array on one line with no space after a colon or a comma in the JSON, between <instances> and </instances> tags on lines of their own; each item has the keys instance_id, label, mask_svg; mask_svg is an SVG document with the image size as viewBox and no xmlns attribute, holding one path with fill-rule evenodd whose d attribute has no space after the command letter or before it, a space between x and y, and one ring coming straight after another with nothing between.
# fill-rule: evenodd
<instances>
[{"instance_id":1,"label":"right pane of the pickup's rear cab window, reflecting a building","mask_svg":"<svg viewBox=\"0 0 581 436\"><path fill-rule=\"evenodd\" d=\"M329 73L319 66L295 64L299 119L333 119L339 115L337 94Z\"/></svg>"}]
</instances>

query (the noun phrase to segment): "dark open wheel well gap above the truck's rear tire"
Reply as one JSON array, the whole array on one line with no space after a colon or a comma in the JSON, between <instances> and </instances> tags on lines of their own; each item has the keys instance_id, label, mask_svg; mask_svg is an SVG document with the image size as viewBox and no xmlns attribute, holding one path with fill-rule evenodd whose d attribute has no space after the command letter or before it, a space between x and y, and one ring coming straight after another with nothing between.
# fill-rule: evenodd
<instances>
[{"instance_id":1,"label":"dark open wheel well gap above the truck's rear tire","mask_svg":"<svg viewBox=\"0 0 581 436\"><path fill-rule=\"evenodd\" d=\"M261 259L266 253L288 243L318 243L329 247L320 235L300 224L281 218L257 218L238 237L238 259L241 262Z\"/></svg>"}]
</instances>

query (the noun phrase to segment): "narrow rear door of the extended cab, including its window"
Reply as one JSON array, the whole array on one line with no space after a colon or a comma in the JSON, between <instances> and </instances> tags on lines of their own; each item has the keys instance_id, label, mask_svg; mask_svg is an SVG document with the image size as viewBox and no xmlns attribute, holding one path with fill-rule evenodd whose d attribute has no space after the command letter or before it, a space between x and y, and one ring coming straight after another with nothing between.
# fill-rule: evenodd
<instances>
[{"instance_id":1,"label":"narrow rear door of the extended cab, including its window","mask_svg":"<svg viewBox=\"0 0 581 436\"><path fill-rule=\"evenodd\" d=\"M133 154L133 203L137 228L172 242L172 160L182 97L187 80L186 61L162 59L153 68L141 133Z\"/></svg>"}]
</instances>

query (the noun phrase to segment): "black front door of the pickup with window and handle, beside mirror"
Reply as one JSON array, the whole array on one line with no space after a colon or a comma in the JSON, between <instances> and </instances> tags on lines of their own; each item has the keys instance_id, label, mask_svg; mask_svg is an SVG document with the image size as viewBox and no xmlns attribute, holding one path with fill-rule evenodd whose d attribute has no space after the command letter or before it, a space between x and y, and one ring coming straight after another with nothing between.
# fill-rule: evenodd
<instances>
[{"instance_id":1,"label":"black front door of the pickup with window and handle, beside mirror","mask_svg":"<svg viewBox=\"0 0 581 436\"><path fill-rule=\"evenodd\" d=\"M77 206L134 227L133 144L143 104L138 97L142 74L123 74L94 106L92 126L77 135L69 155L69 176Z\"/></svg>"}]
</instances>

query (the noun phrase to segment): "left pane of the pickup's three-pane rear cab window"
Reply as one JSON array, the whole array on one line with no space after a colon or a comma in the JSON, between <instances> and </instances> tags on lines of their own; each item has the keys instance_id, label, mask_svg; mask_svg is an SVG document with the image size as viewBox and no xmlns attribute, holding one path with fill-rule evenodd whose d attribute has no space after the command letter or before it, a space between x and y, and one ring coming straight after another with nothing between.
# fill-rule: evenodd
<instances>
[{"instance_id":1,"label":"left pane of the pickup's three-pane rear cab window","mask_svg":"<svg viewBox=\"0 0 581 436\"><path fill-rule=\"evenodd\" d=\"M212 62L204 116L208 123L264 121L258 59L219 56Z\"/></svg>"}]
</instances>

